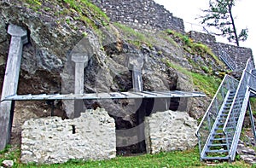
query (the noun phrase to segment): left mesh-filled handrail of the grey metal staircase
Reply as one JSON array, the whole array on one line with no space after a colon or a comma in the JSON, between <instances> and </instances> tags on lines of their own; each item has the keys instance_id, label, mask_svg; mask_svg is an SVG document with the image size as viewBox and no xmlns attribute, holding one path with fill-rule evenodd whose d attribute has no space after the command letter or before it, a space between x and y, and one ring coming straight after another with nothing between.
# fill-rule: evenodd
<instances>
[{"instance_id":1,"label":"left mesh-filled handrail of the grey metal staircase","mask_svg":"<svg viewBox=\"0 0 256 168\"><path fill-rule=\"evenodd\" d=\"M235 84L236 83L236 84ZM224 102L224 98L228 93L228 90L236 90L236 86L238 85L238 81L235 78L230 77L229 75L225 75L222 83L219 85L218 90L213 97L210 106L207 108L207 112L205 113L204 117L201 119L201 123L198 126L197 130L195 131L195 136L198 137L199 142L199 150L201 153L201 149L205 146L207 139L203 142L203 138L201 138L201 128L207 122L207 130L210 133L213 126L213 120L215 120L218 116L218 112L220 110L221 105ZM213 119L215 118L215 119ZM212 119L212 122L211 122Z\"/></svg>"}]
</instances>

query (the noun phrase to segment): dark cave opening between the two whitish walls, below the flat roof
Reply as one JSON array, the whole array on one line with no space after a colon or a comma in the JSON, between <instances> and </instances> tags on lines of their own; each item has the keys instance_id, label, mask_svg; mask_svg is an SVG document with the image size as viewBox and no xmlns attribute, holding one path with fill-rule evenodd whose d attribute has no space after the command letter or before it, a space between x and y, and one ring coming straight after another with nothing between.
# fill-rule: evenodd
<instances>
[{"instance_id":1,"label":"dark cave opening between the two whitish walls, below the flat roof","mask_svg":"<svg viewBox=\"0 0 256 168\"><path fill-rule=\"evenodd\" d=\"M124 147L116 147L117 154L123 156L130 156L136 154L145 154L146 151L146 142L145 142L145 135L144 135L144 127L139 126L144 123L145 117L148 117L151 113L156 112L164 112L166 110L177 111L179 106L180 98L144 98L142 101L139 101L140 105L137 108L136 113L133 113L132 117L133 125L128 124L125 120L121 118L114 118L116 130L125 130L125 129L135 129L136 132L133 132L131 135L127 136L137 136L137 143L124 146ZM136 105L137 106L137 105ZM126 123L126 124L125 124ZM118 135L117 135L118 136ZM143 140L143 141L140 141ZM119 138L117 138L117 144Z\"/></svg>"}]
</instances>

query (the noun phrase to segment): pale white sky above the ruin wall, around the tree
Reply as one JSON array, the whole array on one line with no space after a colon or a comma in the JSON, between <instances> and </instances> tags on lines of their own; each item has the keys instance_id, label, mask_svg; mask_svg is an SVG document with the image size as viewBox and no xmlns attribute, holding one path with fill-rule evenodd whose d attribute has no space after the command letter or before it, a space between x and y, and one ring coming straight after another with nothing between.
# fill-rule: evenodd
<instances>
[{"instance_id":1,"label":"pale white sky above the ruin wall, around the tree","mask_svg":"<svg viewBox=\"0 0 256 168\"><path fill-rule=\"evenodd\" d=\"M201 9L208 8L209 0L154 0L154 2L164 5L174 16L183 19L186 32L191 30L202 32L201 20L195 18L203 15ZM253 39L256 38L255 4L255 0L236 0L236 6L233 8L237 32L246 27L249 31L247 41L240 42L240 46L253 49L254 60L256 57L256 43L254 43L256 39ZM217 37L217 41L229 43L224 38Z\"/></svg>"}]
</instances>

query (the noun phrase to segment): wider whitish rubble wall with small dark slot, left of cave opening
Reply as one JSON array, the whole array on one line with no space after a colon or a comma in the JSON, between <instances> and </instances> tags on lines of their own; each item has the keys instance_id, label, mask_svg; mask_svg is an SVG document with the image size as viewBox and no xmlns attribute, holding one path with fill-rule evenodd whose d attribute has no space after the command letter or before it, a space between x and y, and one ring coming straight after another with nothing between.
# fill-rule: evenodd
<instances>
[{"instance_id":1,"label":"wider whitish rubble wall with small dark slot, left of cave opening","mask_svg":"<svg viewBox=\"0 0 256 168\"><path fill-rule=\"evenodd\" d=\"M37 164L68 159L111 159L116 156L114 119L97 108L77 119L30 119L22 127L21 161Z\"/></svg>"}]
</instances>

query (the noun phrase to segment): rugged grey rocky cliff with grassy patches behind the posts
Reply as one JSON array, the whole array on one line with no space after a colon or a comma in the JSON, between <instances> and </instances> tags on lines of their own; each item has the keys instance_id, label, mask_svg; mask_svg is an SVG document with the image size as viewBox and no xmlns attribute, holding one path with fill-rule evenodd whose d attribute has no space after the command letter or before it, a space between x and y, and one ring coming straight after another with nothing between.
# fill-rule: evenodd
<instances>
[{"instance_id":1,"label":"rugged grey rocky cliff with grassy patches behind the posts","mask_svg":"<svg viewBox=\"0 0 256 168\"><path fill-rule=\"evenodd\" d=\"M139 59L144 62L143 90L207 91L207 99L169 100L169 109L186 111L198 119L213 94L212 85L201 85L202 78L218 78L227 68L207 45L195 43L187 35L172 30L135 31L109 21L106 14L86 0L14 0L0 3L1 83L9 49L9 24L25 27L29 32L29 43L23 50L18 94L72 92L70 57L77 48L90 57L84 69L85 93L132 90L129 60ZM26 119L50 115L48 104L44 101L16 103L13 142L19 141L15 137L20 136L20 125ZM86 108L104 107L115 119L117 129L136 125L134 101L84 101L84 105ZM55 102L56 115L70 118L67 110L62 101Z\"/></svg>"}]
</instances>

